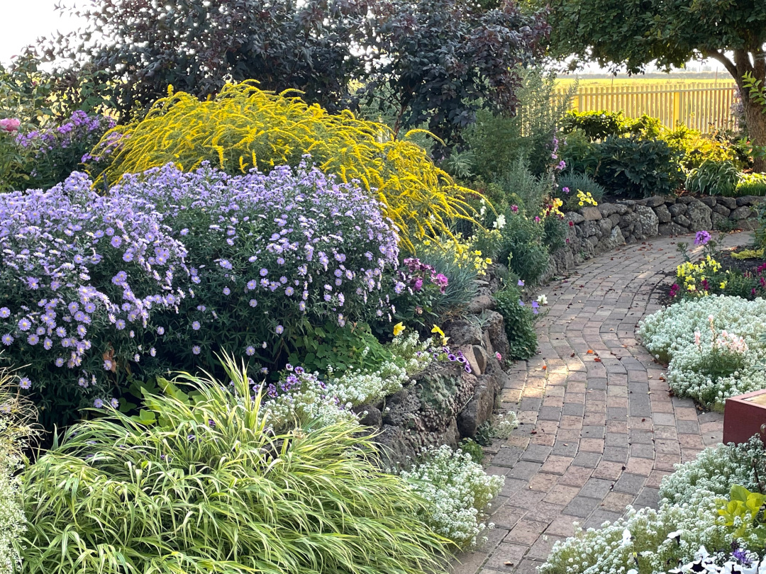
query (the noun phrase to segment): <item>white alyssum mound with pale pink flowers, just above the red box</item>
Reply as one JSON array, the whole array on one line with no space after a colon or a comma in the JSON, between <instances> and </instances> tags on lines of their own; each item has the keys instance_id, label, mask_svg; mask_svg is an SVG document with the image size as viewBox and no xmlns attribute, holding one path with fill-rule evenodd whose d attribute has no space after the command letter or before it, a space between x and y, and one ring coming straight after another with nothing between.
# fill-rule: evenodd
<instances>
[{"instance_id":1,"label":"white alyssum mound with pale pink flowers, just above the red box","mask_svg":"<svg viewBox=\"0 0 766 574\"><path fill-rule=\"evenodd\" d=\"M713 337L708 335L711 325ZM644 318L638 329L643 345L668 362L667 381L676 395L712 406L721 406L730 396L766 388L766 370L761 368L766 360L763 333L766 301L728 295L675 303ZM713 357L716 353L719 357ZM722 361L731 365L727 372L715 368Z\"/></svg>"}]
</instances>

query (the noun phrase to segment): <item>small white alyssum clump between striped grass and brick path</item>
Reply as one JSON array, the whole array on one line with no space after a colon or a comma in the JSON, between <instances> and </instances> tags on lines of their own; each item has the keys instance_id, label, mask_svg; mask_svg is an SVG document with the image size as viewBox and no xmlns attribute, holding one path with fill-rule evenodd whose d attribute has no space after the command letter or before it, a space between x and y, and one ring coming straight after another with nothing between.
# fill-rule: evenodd
<instances>
[{"instance_id":1,"label":"small white alyssum clump between striped grass and brick path","mask_svg":"<svg viewBox=\"0 0 766 574\"><path fill-rule=\"evenodd\" d=\"M447 445L422 454L420 464L400 474L427 501L423 519L461 549L476 546L481 533L494 526L483 522L483 513L506 478L487 475L470 455Z\"/></svg>"}]
</instances>

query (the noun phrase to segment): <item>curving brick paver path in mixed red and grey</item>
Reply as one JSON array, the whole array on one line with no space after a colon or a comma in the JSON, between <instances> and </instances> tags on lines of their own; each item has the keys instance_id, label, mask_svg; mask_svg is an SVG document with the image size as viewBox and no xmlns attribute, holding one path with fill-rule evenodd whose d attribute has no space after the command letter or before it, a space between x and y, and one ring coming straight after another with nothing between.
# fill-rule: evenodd
<instances>
[{"instance_id":1,"label":"curving brick paver path in mixed red and grey","mask_svg":"<svg viewBox=\"0 0 766 574\"><path fill-rule=\"evenodd\" d=\"M748 240L735 233L724 244ZM531 574L574 521L598 527L627 504L656 507L673 465L721 441L722 415L671 398L663 366L635 338L640 318L660 308L655 285L683 262L678 241L623 246L542 289L540 352L516 363L502 390L522 425L489 448L487 471L506 476L496 528L480 550L458 556L455 574Z\"/></svg>"}]
</instances>

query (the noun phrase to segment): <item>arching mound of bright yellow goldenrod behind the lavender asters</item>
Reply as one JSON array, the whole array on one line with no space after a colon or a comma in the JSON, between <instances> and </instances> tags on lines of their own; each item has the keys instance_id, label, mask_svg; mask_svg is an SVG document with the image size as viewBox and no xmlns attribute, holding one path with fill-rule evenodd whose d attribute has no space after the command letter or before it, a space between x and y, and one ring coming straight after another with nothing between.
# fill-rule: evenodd
<instances>
[{"instance_id":1,"label":"arching mound of bright yellow goldenrod behind the lavender asters","mask_svg":"<svg viewBox=\"0 0 766 574\"><path fill-rule=\"evenodd\" d=\"M116 135L122 135L114 148ZM103 175L113 184L169 162L184 171L210 161L229 173L276 165L297 165L303 155L342 181L358 180L385 204L385 215L409 236L447 233L454 219L473 219L461 188L437 168L424 148L395 139L388 126L345 111L326 112L300 97L259 90L254 82L224 87L201 102L188 93L169 93L146 118L107 132L91 155L114 148Z\"/></svg>"}]
</instances>

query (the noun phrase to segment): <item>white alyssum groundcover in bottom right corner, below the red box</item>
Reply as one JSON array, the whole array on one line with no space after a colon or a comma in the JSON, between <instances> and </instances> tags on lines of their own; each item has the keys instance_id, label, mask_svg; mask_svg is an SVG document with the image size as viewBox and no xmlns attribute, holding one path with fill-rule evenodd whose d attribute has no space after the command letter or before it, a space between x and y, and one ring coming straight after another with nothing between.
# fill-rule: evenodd
<instances>
[{"instance_id":1,"label":"white alyssum groundcover in bottom right corner, below the red box","mask_svg":"<svg viewBox=\"0 0 766 574\"><path fill-rule=\"evenodd\" d=\"M753 460L763 458L756 441L706 449L663 479L659 510L628 507L625 517L600 529L578 528L555 543L539 574L764 574L763 544L753 536L734 540L716 503L732 484L755 489Z\"/></svg>"}]
</instances>

